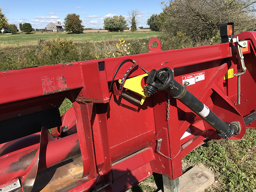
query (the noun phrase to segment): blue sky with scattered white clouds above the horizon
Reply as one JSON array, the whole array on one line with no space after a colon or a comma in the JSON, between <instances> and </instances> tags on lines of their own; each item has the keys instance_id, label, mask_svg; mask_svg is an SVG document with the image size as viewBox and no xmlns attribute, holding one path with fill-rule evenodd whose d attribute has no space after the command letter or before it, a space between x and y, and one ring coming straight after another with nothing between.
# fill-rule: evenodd
<instances>
[{"instance_id":1,"label":"blue sky with scattered white clouds above the horizon","mask_svg":"<svg viewBox=\"0 0 256 192\"><path fill-rule=\"evenodd\" d=\"M103 20L113 15L123 15L128 19L128 12L138 10L137 27L148 27L147 20L152 14L163 10L161 0L124 0L124 1L60 1L60 0L2 0L0 8L9 24L30 23L33 28L45 28L50 22L61 21L68 13L80 15L85 28L103 28Z\"/></svg>"}]
</instances>

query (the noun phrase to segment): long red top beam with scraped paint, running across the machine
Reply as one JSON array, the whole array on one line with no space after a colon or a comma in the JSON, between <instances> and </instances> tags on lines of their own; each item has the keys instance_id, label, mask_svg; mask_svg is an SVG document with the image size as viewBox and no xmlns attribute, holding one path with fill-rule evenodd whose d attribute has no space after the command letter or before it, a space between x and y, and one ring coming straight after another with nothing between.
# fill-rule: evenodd
<instances>
[{"instance_id":1,"label":"long red top beam with scraped paint, running across the machine","mask_svg":"<svg viewBox=\"0 0 256 192\"><path fill-rule=\"evenodd\" d=\"M82 61L52 66L26 68L0 73L0 82L4 87L0 92L0 104L25 100L38 96L44 96L55 92L63 92L78 88L86 88L91 85L90 78L82 75L85 70L90 71L86 66L105 62L106 78L110 82L117 66L125 59L136 60L143 68L150 71L156 66L159 68L170 67L165 62L171 61L173 68L193 65L197 63L219 60L232 56L229 44L208 45L202 47L192 47L171 51L151 52L139 55L107 58L102 60ZM81 67L81 66L84 66ZM125 71L131 66L128 62L117 73L115 80L121 79ZM141 70L135 71L132 76L141 75ZM99 76L98 74L91 74ZM103 82L103 79L101 79ZM6 97L8 95L8 97Z\"/></svg>"}]
</instances>

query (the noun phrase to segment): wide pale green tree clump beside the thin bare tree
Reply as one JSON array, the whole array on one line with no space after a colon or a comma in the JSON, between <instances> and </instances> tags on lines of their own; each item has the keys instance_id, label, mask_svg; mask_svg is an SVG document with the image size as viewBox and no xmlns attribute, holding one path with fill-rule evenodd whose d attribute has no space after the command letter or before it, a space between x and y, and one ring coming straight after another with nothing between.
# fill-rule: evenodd
<instances>
[{"instance_id":1,"label":"wide pale green tree clump beside the thin bare tree","mask_svg":"<svg viewBox=\"0 0 256 192\"><path fill-rule=\"evenodd\" d=\"M127 22L122 15L114 15L104 19L104 29L108 31L124 31L127 28Z\"/></svg>"}]
</instances>

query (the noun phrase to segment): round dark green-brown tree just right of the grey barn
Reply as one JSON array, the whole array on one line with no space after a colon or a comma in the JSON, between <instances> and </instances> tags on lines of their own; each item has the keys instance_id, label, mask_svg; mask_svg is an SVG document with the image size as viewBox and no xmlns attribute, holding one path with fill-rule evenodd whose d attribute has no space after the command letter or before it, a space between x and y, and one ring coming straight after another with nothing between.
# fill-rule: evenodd
<instances>
[{"instance_id":1,"label":"round dark green-brown tree just right of the grey barn","mask_svg":"<svg viewBox=\"0 0 256 192\"><path fill-rule=\"evenodd\" d=\"M84 26L79 18L80 16L76 13L68 14L64 19L65 30L71 33L83 33Z\"/></svg>"}]
</instances>

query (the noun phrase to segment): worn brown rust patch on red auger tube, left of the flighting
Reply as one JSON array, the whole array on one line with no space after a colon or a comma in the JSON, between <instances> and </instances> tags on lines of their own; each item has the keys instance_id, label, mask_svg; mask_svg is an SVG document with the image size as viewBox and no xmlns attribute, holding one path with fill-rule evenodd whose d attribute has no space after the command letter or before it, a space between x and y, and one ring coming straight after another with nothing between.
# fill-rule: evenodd
<instances>
[{"instance_id":1,"label":"worn brown rust patch on red auger tube, left of the flighting","mask_svg":"<svg viewBox=\"0 0 256 192\"><path fill-rule=\"evenodd\" d=\"M37 150L38 148L26 155L23 155L22 157L20 157L18 161L10 164L8 172L9 173L17 172L17 171L20 171L21 169L26 170L28 166L31 164L31 162L33 161L33 159L35 158Z\"/></svg>"}]
</instances>

